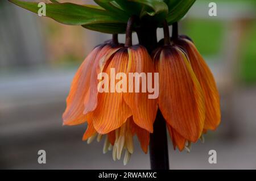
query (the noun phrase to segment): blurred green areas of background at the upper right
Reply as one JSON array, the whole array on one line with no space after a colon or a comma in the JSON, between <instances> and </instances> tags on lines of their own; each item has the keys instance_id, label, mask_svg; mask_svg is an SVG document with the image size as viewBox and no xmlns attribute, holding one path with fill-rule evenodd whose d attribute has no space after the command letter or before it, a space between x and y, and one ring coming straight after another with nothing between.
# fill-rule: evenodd
<instances>
[{"instance_id":1,"label":"blurred green areas of background at the upper right","mask_svg":"<svg viewBox=\"0 0 256 181\"><path fill-rule=\"evenodd\" d=\"M210 2L217 3L218 7L221 4L226 6L232 3L232 7L239 10L246 11L246 7L250 6L250 10L256 11L256 1L254 0L198 0L194 6L199 4L208 5ZM230 8L232 8L230 7ZM224 38L225 33L228 33L225 29L225 21L221 18L217 20L210 20L210 18L205 19L189 19L185 20L183 26L183 32L195 41L197 48L200 50L201 54L204 56L213 56L221 53L220 43ZM254 85L256 82L256 20L250 22L246 36L242 40L241 49L241 60L239 62L240 68L238 69L238 78L241 83L246 85Z\"/></svg>"}]
</instances>

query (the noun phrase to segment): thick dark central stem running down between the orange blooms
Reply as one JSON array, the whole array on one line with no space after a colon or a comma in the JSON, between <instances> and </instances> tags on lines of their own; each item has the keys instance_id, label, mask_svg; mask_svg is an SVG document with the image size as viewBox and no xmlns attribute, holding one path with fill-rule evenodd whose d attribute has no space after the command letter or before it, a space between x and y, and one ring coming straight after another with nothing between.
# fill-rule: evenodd
<instances>
[{"instance_id":1,"label":"thick dark central stem running down between the orange blooms","mask_svg":"<svg viewBox=\"0 0 256 181\"><path fill-rule=\"evenodd\" d=\"M146 47L148 53L152 53L158 45L156 26L141 24L136 32L139 44ZM166 121L160 110L155 119L154 133L150 134L150 163L152 170L169 169Z\"/></svg>"}]
</instances>

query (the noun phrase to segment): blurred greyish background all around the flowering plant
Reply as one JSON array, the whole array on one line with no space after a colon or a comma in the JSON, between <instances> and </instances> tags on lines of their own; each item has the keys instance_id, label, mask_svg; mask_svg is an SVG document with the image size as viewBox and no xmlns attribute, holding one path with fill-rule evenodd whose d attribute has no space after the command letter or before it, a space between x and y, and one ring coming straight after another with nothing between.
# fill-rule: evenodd
<instances>
[{"instance_id":1,"label":"blurred greyish background all around the flowering plant","mask_svg":"<svg viewBox=\"0 0 256 181\"><path fill-rule=\"evenodd\" d=\"M256 3L214 1L218 16L210 17L209 2L197 0L180 28L216 77L222 123L204 144L193 144L191 153L173 150L169 139L170 168L256 169ZM0 169L150 169L149 155L137 140L130 163L123 166L112 153L102 154L104 141L82 141L86 124L62 126L73 75L86 54L110 35L40 18L6 0L0 1L0 23ZM47 153L42 165L41 149ZM208 162L212 149L216 164Z\"/></svg>"}]
</instances>

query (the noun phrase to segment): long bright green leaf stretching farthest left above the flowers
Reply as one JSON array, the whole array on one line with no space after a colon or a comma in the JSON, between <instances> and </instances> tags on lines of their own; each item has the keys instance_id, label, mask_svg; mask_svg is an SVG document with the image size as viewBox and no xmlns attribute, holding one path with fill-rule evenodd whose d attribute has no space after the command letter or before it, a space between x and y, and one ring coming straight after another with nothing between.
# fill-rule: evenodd
<instances>
[{"instance_id":1,"label":"long bright green leaf stretching farthest left above the flowers","mask_svg":"<svg viewBox=\"0 0 256 181\"><path fill-rule=\"evenodd\" d=\"M36 2L9 0L29 11L38 13L40 7ZM84 25L96 23L126 23L126 19L114 16L111 12L99 7L82 6L73 3L46 3L46 16L57 22L69 25Z\"/></svg>"}]
</instances>

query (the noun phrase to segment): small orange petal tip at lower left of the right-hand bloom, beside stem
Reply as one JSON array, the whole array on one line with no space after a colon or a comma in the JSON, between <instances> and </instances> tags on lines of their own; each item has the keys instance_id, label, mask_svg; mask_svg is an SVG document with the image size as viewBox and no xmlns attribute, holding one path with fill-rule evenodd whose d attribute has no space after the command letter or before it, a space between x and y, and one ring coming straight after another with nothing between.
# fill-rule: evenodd
<instances>
[{"instance_id":1,"label":"small orange petal tip at lower left of the right-hand bloom, beside stem","mask_svg":"<svg viewBox=\"0 0 256 181\"><path fill-rule=\"evenodd\" d=\"M179 148L180 151L184 149L185 146L185 138L181 136L178 132L175 131L170 125L167 124L168 132L172 139L172 145L174 145L174 149Z\"/></svg>"}]
</instances>

